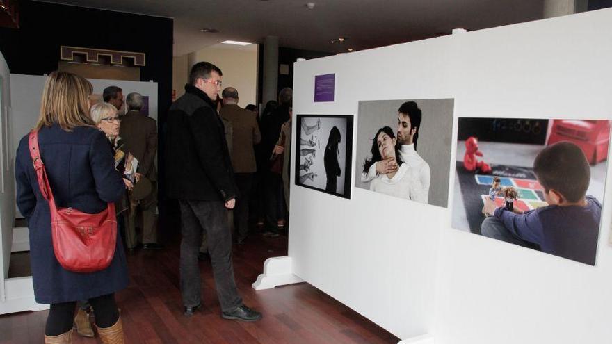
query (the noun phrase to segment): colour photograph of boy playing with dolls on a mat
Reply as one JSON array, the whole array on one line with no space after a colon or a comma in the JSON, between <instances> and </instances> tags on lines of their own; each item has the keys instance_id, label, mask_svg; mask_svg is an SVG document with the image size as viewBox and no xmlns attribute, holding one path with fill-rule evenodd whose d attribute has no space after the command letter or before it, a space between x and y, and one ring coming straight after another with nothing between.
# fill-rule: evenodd
<instances>
[{"instance_id":1,"label":"colour photograph of boy playing with dolls on a mat","mask_svg":"<svg viewBox=\"0 0 612 344\"><path fill-rule=\"evenodd\" d=\"M452 227L595 265L610 127L460 117Z\"/></svg>"}]
</instances>

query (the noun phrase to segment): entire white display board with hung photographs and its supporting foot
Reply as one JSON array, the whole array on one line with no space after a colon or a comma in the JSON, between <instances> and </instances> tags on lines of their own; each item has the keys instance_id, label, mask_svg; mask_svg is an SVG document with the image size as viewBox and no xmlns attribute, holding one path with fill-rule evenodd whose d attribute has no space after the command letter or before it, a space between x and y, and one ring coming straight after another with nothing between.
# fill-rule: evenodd
<instances>
[{"instance_id":1,"label":"entire white display board with hung photographs and its supporting foot","mask_svg":"<svg viewBox=\"0 0 612 344\"><path fill-rule=\"evenodd\" d=\"M611 60L607 9L296 63L298 118L353 114L351 196L297 186L302 174L292 173L289 255L269 260L254 287L307 281L405 343L607 343ZM316 76L327 74L335 75L333 100L316 101ZM398 111L411 101L422 114L413 150ZM297 160L312 143L304 130L293 125L291 161L300 165L312 162ZM397 174L367 178L376 151L393 158L385 139L405 140L394 156L412 169L406 175L419 171L410 183ZM589 211L593 222L571 228L578 233L565 250L480 235L488 200L507 201L489 198L495 174L517 192L519 210L563 201L564 186L549 193L533 172L558 141L584 153L582 174L570 174L576 164L560 174L588 183L579 195L602 204ZM569 226L553 216L559 224L551 227L538 214L545 233ZM580 233L587 227L588 238Z\"/></svg>"}]
</instances>

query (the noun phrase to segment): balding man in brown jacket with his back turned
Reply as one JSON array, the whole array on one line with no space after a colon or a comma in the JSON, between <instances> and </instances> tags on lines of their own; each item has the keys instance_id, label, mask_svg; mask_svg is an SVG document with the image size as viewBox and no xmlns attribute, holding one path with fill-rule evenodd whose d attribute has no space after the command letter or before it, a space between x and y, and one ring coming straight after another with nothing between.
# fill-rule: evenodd
<instances>
[{"instance_id":1,"label":"balding man in brown jacket with his back turned","mask_svg":"<svg viewBox=\"0 0 612 344\"><path fill-rule=\"evenodd\" d=\"M261 133L257 125L257 118L252 111L238 106L238 91L236 88L228 87L221 93L223 96L223 108L220 116L230 121L234 129L232 136L232 166L234 166L234 180L238 187L236 196L236 208L234 208L234 227L236 229L236 241L244 243L248 236L249 197L253 184L257 165L255 164L255 149L261 141Z\"/></svg>"}]
</instances>

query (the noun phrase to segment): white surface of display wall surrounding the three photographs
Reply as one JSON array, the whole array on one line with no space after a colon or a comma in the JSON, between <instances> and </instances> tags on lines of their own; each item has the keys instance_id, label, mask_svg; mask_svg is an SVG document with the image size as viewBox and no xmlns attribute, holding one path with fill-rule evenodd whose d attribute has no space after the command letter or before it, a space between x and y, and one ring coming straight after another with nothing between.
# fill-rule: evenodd
<instances>
[{"instance_id":1,"label":"white surface of display wall surrounding the three photographs","mask_svg":"<svg viewBox=\"0 0 612 344\"><path fill-rule=\"evenodd\" d=\"M357 126L362 100L454 98L453 195L458 117L610 119L611 61L612 9L459 32L296 63L293 113L355 114ZM314 76L330 73L335 102L314 103ZM396 336L612 341L610 185L592 267L452 229L452 197L440 208L353 188L348 200L291 178L293 273Z\"/></svg>"}]
</instances>

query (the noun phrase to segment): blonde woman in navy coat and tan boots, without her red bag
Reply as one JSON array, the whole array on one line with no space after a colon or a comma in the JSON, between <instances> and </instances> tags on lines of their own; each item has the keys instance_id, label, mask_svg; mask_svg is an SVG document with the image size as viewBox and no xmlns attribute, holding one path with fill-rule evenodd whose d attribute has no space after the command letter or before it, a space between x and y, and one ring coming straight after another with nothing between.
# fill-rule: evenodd
<instances>
[{"instance_id":1,"label":"blonde woman in navy coat and tan boots, without her red bag","mask_svg":"<svg viewBox=\"0 0 612 344\"><path fill-rule=\"evenodd\" d=\"M89 81L80 76L51 73L42 93L35 129L40 156L58 207L99 213L107 202L121 199L125 185L115 170L108 139L90 118L88 96L91 92ZM17 206L29 227L35 300L51 304L45 343L72 343L77 300L89 300L102 343L124 343L114 296L128 283L120 237L108 268L89 273L65 270L54 254L49 203L38 188L27 135L17 149L15 179Z\"/></svg>"}]
</instances>

